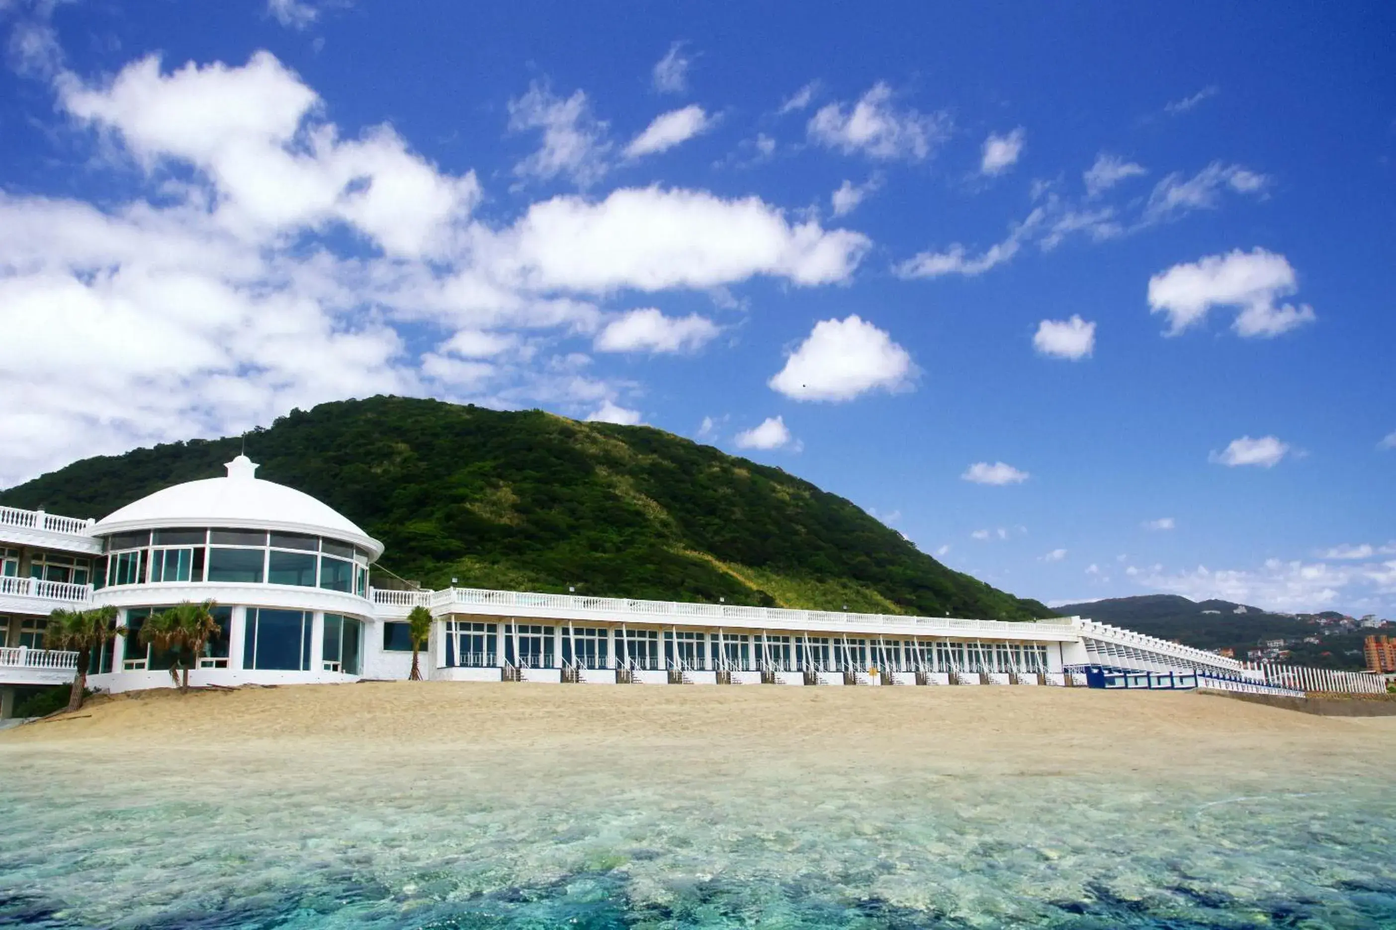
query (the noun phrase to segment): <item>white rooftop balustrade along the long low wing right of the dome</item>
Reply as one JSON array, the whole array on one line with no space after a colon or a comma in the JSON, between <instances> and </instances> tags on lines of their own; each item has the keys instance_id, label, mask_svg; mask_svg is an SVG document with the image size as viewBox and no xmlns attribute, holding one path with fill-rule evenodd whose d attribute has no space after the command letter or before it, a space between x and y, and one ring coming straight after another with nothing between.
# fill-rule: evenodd
<instances>
[{"instance_id":1,"label":"white rooftop balustrade along the long low wing right of the dome","mask_svg":"<svg viewBox=\"0 0 1396 930\"><path fill-rule=\"evenodd\" d=\"M646 601L578 594L543 594L536 591L490 591L484 588L444 588L440 591L381 591L374 588L371 597L374 604L396 608L429 607L437 611L448 611L454 607L530 608L542 611L577 611L606 615L616 619L624 616L644 616L651 619L656 616L673 616L688 620L743 620L772 629L786 626L843 629L850 625L877 625L903 627L907 632L935 630L966 636L976 633L1012 633L1015 637L1020 637L1034 627L1032 623L1015 623L1009 620L967 620L949 616L907 616L900 613L856 613L845 611L792 611L769 607L740 607L734 604ZM1069 622L1067 618L1039 620L1039 623L1050 626L1068 625Z\"/></svg>"}]
</instances>

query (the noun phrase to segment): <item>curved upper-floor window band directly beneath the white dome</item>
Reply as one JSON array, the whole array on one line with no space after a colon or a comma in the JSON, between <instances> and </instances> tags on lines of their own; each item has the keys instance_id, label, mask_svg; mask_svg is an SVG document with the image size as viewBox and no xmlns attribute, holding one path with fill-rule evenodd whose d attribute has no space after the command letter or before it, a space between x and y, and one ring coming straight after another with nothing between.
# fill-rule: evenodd
<instances>
[{"instance_id":1,"label":"curved upper-floor window band directly beneath the white dome","mask_svg":"<svg viewBox=\"0 0 1396 930\"><path fill-rule=\"evenodd\" d=\"M80 559L64 572L85 583L91 567ZM56 573L54 580L63 579ZM369 554L338 540L264 530L215 527L107 537L107 586L205 580L321 587L367 597Z\"/></svg>"}]
</instances>

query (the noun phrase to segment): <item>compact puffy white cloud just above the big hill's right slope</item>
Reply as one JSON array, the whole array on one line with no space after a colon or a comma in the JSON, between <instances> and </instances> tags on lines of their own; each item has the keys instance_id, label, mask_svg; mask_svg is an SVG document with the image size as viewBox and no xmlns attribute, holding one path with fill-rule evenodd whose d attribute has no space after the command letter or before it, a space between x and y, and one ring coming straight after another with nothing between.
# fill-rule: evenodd
<instances>
[{"instance_id":1,"label":"compact puffy white cloud just above the big hill's right slope","mask_svg":"<svg viewBox=\"0 0 1396 930\"><path fill-rule=\"evenodd\" d=\"M796 400L852 400L868 390L905 390L914 376L910 354L854 314L815 323L768 383Z\"/></svg>"}]
</instances>

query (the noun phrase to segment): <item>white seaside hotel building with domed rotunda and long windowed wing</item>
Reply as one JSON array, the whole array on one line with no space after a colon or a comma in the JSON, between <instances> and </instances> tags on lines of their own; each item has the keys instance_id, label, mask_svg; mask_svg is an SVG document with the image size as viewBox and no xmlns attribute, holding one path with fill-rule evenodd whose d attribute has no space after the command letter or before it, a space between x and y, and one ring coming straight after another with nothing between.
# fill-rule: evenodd
<instances>
[{"instance_id":1,"label":"white seaside hotel building with domed rotunda and long windowed wing","mask_svg":"<svg viewBox=\"0 0 1396 930\"><path fill-rule=\"evenodd\" d=\"M126 636L91 657L89 687L170 687L145 619L214 601L219 633L191 685L405 679L406 618L431 612L423 676L596 685L1099 685L1280 690L1263 668L1082 618L1029 623L792 611L477 588L380 590L383 544L322 502L255 477L156 491L101 520L0 508L0 717L74 676L45 648L56 608L110 605ZM1316 671L1316 669L1311 669ZM1101 672L1107 678L1101 679ZM1332 690L1376 690L1332 673ZM1372 682L1361 680L1371 678Z\"/></svg>"}]
</instances>

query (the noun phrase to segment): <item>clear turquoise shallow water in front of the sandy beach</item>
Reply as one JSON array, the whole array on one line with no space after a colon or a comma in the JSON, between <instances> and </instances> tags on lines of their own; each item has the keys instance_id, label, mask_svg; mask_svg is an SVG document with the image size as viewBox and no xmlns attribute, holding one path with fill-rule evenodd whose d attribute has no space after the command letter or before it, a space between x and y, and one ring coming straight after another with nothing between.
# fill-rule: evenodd
<instances>
[{"instance_id":1,"label":"clear turquoise shallow water in front of the sandy beach","mask_svg":"<svg viewBox=\"0 0 1396 930\"><path fill-rule=\"evenodd\" d=\"M0 927L1396 927L1390 782L0 747Z\"/></svg>"}]
</instances>

